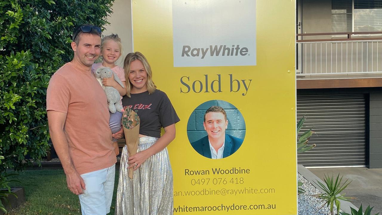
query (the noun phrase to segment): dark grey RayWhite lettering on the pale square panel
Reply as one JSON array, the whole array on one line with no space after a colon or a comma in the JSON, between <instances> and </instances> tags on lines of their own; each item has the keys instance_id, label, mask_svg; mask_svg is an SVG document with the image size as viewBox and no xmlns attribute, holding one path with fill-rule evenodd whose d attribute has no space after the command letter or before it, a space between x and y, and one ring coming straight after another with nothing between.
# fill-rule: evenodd
<instances>
[{"instance_id":1,"label":"dark grey RayWhite lettering on the pale square panel","mask_svg":"<svg viewBox=\"0 0 382 215\"><path fill-rule=\"evenodd\" d=\"M247 47L240 47L240 45L232 45L232 47L227 47L226 45L220 46L210 46L209 48L191 48L191 46L183 46L182 57L201 57L204 59L206 54L212 56L245 56L248 54Z\"/></svg>"}]
</instances>

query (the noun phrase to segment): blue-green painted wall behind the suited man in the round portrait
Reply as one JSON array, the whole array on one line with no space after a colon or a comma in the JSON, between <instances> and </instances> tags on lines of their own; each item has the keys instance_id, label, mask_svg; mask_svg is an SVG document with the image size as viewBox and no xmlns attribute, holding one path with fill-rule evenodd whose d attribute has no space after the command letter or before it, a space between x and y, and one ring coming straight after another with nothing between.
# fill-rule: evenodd
<instances>
[{"instance_id":1,"label":"blue-green painted wall behind the suited man in the round portrait","mask_svg":"<svg viewBox=\"0 0 382 215\"><path fill-rule=\"evenodd\" d=\"M227 112L228 128L226 134L244 139L245 122L240 111L232 104L222 100L207 101L199 106L191 113L187 124L188 140L192 143L202 137L207 136L207 132L203 127L204 113L211 106L220 106Z\"/></svg>"}]
</instances>

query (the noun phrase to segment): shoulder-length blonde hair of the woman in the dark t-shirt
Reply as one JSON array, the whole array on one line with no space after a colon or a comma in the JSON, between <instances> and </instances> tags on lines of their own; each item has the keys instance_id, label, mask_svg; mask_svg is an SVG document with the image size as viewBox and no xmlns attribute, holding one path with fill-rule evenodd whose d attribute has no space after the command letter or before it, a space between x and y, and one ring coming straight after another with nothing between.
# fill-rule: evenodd
<instances>
[{"instance_id":1,"label":"shoulder-length blonde hair of the woman in the dark t-shirt","mask_svg":"<svg viewBox=\"0 0 382 215\"><path fill-rule=\"evenodd\" d=\"M131 97L130 91L132 88L132 84L130 83L130 80L129 80L129 74L130 74L130 64L134 60L141 61L147 73L147 81L146 81L147 90L149 91L149 94L154 93L155 89L157 89L157 86L155 86L154 81L152 81L152 72L151 72L151 67L149 62L147 61L146 57L144 57L144 55L141 52L132 52L126 55L125 62L123 62L123 68L125 69L125 78L126 78L126 85L127 85L126 96Z\"/></svg>"}]
</instances>

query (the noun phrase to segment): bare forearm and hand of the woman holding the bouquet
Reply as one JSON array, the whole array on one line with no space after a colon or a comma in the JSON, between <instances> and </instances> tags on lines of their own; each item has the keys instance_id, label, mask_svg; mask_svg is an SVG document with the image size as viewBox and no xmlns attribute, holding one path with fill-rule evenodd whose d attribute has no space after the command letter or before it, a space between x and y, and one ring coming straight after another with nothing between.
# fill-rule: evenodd
<instances>
[{"instance_id":1,"label":"bare forearm and hand of the woman holding the bouquet","mask_svg":"<svg viewBox=\"0 0 382 215\"><path fill-rule=\"evenodd\" d=\"M154 143L154 145L129 157L129 168L134 168L134 170L138 169L139 166L147 160L147 158L158 153L159 151L162 151L168 146L168 144L170 144L171 141L175 139L175 124L168 125L164 129L165 133L157 140L157 142ZM134 163L137 165L131 165Z\"/></svg>"}]
</instances>

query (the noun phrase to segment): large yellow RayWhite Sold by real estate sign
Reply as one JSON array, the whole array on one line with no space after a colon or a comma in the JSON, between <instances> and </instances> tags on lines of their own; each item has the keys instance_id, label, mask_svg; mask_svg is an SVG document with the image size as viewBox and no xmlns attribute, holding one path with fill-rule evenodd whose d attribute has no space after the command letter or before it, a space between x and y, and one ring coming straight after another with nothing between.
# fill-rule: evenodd
<instances>
[{"instance_id":1,"label":"large yellow RayWhite Sold by real estate sign","mask_svg":"<svg viewBox=\"0 0 382 215\"><path fill-rule=\"evenodd\" d=\"M174 214L297 214L295 1L133 0L132 10L134 51L181 119L168 146ZM211 106L228 125L204 118ZM210 148L222 132L223 148Z\"/></svg>"}]
</instances>

